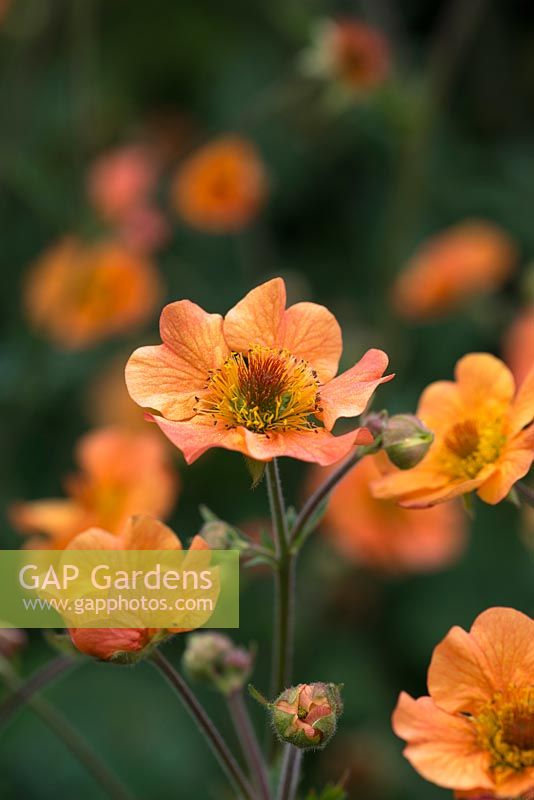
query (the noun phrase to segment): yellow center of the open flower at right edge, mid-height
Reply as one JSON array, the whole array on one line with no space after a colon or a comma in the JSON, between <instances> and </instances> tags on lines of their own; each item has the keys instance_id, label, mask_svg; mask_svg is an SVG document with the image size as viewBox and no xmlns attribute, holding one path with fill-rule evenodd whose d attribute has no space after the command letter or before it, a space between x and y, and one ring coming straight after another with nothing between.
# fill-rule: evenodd
<instances>
[{"instance_id":1,"label":"yellow center of the open flower at right edge, mid-height","mask_svg":"<svg viewBox=\"0 0 534 800\"><path fill-rule=\"evenodd\" d=\"M476 478L486 464L498 459L505 441L500 417L462 420L443 440L442 466L451 478Z\"/></svg>"}]
</instances>

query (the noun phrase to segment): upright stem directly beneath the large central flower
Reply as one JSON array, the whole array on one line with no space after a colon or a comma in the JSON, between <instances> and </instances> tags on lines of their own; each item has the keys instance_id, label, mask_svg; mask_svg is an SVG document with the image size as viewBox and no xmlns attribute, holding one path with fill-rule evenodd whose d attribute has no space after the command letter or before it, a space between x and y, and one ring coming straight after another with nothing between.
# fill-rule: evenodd
<instances>
[{"instance_id":1,"label":"upright stem directly beneath the large central flower","mask_svg":"<svg viewBox=\"0 0 534 800\"><path fill-rule=\"evenodd\" d=\"M265 472L277 559L272 679L273 695L277 696L291 682L295 628L296 554L289 547L286 509L276 459L267 463Z\"/></svg>"}]
</instances>

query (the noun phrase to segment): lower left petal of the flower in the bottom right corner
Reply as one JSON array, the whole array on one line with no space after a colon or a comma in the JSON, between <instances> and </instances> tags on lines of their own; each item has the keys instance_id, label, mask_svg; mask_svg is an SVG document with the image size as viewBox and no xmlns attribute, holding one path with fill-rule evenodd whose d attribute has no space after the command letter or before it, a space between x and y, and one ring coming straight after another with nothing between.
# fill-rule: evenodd
<instances>
[{"instance_id":1,"label":"lower left petal of the flower in the bottom right corner","mask_svg":"<svg viewBox=\"0 0 534 800\"><path fill-rule=\"evenodd\" d=\"M428 781L445 789L492 787L486 772L489 757L479 749L471 723L442 711L430 697L414 700L403 692L393 730L406 740L404 755L410 764Z\"/></svg>"}]
</instances>

